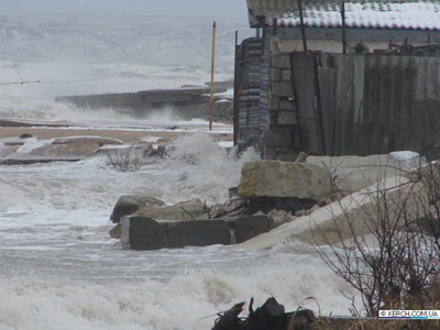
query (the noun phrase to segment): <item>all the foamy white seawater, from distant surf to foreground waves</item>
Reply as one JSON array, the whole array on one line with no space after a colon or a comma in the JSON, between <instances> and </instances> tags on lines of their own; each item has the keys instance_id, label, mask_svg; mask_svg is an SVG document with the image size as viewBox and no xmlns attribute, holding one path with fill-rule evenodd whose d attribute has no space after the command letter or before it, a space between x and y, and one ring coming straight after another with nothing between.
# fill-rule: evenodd
<instances>
[{"instance_id":1,"label":"all the foamy white seawater, from distant surf to foreground waves","mask_svg":"<svg viewBox=\"0 0 440 330\"><path fill-rule=\"evenodd\" d=\"M346 285L314 248L299 242L263 252L222 246L123 251L108 234L121 195L154 196L168 205L193 198L221 204L239 184L242 164L258 155L249 150L237 158L210 134L198 133L206 131L200 129L205 121L182 122L172 111L134 120L111 109L79 111L53 101L58 95L202 84L209 72L123 64L55 67L0 62L4 80L110 79L1 86L0 118L72 120L97 129L178 124L195 134L177 139L168 157L134 173L117 172L99 155L78 163L0 166L0 330L209 329L215 318L202 317L251 297L263 304L271 296L288 310L299 305L317 310L306 300L314 296L323 314L348 314L351 301L339 293ZM216 131L230 133L231 127L218 124ZM40 143L29 140L20 150Z\"/></svg>"}]
</instances>

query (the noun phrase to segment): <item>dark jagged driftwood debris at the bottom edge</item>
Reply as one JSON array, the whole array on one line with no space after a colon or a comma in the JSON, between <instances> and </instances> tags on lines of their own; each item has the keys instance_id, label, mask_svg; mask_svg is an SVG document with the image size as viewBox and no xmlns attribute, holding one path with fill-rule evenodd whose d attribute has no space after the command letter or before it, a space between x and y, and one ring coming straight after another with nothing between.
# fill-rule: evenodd
<instances>
[{"instance_id":1,"label":"dark jagged driftwood debris at the bottom edge","mask_svg":"<svg viewBox=\"0 0 440 330\"><path fill-rule=\"evenodd\" d=\"M284 306L275 298L268 298L262 307L253 309L253 298L249 306L248 318L240 318L244 302L234 305L231 309L218 314L219 318L212 330L308 330L316 321L314 312L300 309L285 312Z\"/></svg>"}]
</instances>

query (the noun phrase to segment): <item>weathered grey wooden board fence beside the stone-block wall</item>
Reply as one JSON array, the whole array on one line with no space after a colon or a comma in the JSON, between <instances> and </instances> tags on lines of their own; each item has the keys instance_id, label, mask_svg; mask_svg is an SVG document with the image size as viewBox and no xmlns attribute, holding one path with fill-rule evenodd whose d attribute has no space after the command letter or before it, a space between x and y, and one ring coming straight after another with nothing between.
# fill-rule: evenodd
<instances>
[{"instance_id":1,"label":"weathered grey wooden board fence beside the stone-block wall","mask_svg":"<svg viewBox=\"0 0 440 330\"><path fill-rule=\"evenodd\" d=\"M292 54L301 148L370 155L440 146L440 58Z\"/></svg>"}]
</instances>

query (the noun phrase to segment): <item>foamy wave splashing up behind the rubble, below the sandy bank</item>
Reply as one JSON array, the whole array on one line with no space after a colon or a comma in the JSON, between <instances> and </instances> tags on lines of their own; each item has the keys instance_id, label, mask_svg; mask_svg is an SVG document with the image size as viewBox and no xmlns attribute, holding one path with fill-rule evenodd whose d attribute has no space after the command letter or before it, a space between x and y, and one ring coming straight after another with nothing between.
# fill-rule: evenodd
<instances>
[{"instance_id":1,"label":"foamy wave splashing up behind the rubble, below the sandy bank","mask_svg":"<svg viewBox=\"0 0 440 330\"><path fill-rule=\"evenodd\" d=\"M169 157L135 173L114 170L105 155L69 164L1 166L0 209L109 210L124 194L155 196L169 204L193 198L224 202L228 189L240 182L242 164L260 158L250 148L237 160L204 133L177 139L172 147Z\"/></svg>"}]
</instances>

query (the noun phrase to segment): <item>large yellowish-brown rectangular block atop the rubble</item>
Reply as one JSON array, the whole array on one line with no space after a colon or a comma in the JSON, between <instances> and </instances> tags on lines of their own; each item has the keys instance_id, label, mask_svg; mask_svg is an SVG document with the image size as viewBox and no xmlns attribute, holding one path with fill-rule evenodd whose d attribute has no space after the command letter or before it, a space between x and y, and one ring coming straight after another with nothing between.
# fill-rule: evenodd
<instances>
[{"instance_id":1,"label":"large yellowish-brown rectangular block atop the rubble","mask_svg":"<svg viewBox=\"0 0 440 330\"><path fill-rule=\"evenodd\" d=\"M331 195L330 172L306 163L263 161L245 163L239 196L319 200Z\"/></svg>"}]
</instances>

